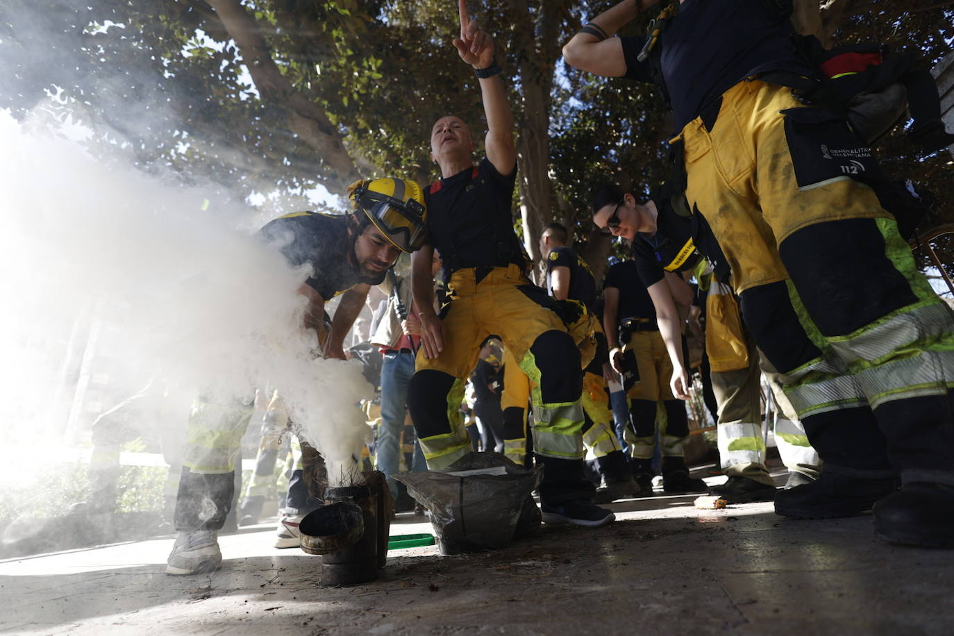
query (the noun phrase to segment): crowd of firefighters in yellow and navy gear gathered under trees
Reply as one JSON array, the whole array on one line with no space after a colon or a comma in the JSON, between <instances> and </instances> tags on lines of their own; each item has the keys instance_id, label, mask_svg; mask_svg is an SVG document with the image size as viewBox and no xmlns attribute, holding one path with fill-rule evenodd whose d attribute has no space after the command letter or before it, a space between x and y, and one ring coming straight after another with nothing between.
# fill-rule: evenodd
<instances>
[{"instance_id":1,"label":"crowd of firefighters in yellow and navy gear gathered under trees","mask_svg":"<svg viewBox=\"0 0 954 636\"><path fill-rule=\"evenodd\" d=\"M602 294L560 224L538 237L545 284L529 275L513 229L508 90L493 40L464 0L453 46L480 85L482 153L467 122L442 116L429 139L434 183L362 180L348 190L350 214L296 213L262 229L292 265L311 265L301 326L325 357L345 357L368 290L384 286L370 341L383 355L375 456L392 494L405 408L417 437L405 468L446 470L478 447L461 408L468 383L480 447L542 466L544 523L611 523L600 503L651 494L656 466L666 492L704 492L683 450L684 331L704 315L703 377L729 478L713 494L774 501L790 518L873 509L886 541L954 545L954 321L877 188L842 165L870 176L876 159L843 117L793 97L812 71L777 12L785 3L681 0L647 36L615 36L655 4L620 2L563 50L582 71L660 86L675 122L670 180L591 193L592 222L632 253L610 268ZM411 254L409 276L392 269L401 253ZM338 295L329 318L325 303ZM783 489L765 464L763 375L781 413ZM615 410L622 427L612 394L625 402L624 414ZM288 425L280 387L269 400L264 455ZM251 407L251 396L203 395L193 408L170 573L221 562L217 533ZM320 505L321 455L302 442L298 459L282 517L287 544ZM267 464L262 476L274 472Z\"/></svg>"}]
</instances>

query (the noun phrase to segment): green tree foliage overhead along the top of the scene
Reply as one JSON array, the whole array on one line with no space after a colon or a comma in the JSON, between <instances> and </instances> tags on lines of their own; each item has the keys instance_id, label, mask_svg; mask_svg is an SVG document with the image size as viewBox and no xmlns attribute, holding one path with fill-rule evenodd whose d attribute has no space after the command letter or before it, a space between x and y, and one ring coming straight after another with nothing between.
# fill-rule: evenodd
<instances>
[{"instance_id":1,"label":"green tree foliage overhead along the top of the scene","mask_svg":"<svg viewBox=\"0 0 954 636\"><path fill-rule=\"evenodd\" d=\"M453 3L246 0L242 6L294 96L325 113L364 172L435 178L427 139L431 123L446 113L467 120L481 143L478 83L450 45L459 31ZM671 132L653 87L563 64L560 46L607 6L591 0L471 3L493 34L518 134L544 137L532 160L545 161L541 174L550 178L530 185L550 192L551 200L533 214L539 222L570 215L580 242L590 234L593 185L612 179L652 188L665 178ZM649 17L627 29L643 31ZM951 49L952 18L949 8L903 13L881 0L868 13L844 18L835 41L918 46L934 63ZM169 165L183 178L208 175L242 194L310 188L335 178L325 157L291 133L291 95L280 95L285 102L260 98L264 88L253 86L218 14L202 0L0 3L0 108L22 116L52 85L75 100L74 107L88 104L84 116L100 126L93 147L118 135L139 149L136 160L146 168ZM543 99L529 99L539 90ZM525 102L535 110L524 113ZM883 141L881 152L891 171L916 176L934 191L942 220L954 221L949 155L919 157L899 132Z\"/></svg>"}]
</instances>

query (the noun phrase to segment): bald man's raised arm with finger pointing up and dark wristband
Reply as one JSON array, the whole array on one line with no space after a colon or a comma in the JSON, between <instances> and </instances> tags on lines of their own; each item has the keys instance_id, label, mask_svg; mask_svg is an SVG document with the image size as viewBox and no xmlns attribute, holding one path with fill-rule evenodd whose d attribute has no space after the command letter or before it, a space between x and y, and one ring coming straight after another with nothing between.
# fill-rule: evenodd
<instances>
[{"instance_id":1,"label":"bald man's raised arm with finger pointing up and dark wristband","mask_svg":"<svg viewBox=\"0 0 954 636\"><path fill-rule=\"evenodd\" d=\"M461 18L461 36L454 40L454 47L461 59L478 72L478 77L497 71L479 80L484 113L487 115L487 159L498 173L512 174L517 159L513 142L513 113L493 56L493 39L487 31L480 30L476 20L467 15L465 0L458 0L457 8Z\"/></svg>"}]
</instances>

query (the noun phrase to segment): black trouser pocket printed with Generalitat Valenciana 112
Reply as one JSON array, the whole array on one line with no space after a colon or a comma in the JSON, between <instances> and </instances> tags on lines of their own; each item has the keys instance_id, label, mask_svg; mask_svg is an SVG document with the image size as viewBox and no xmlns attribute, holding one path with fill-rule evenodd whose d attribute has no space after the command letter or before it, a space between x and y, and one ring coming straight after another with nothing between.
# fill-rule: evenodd
<instances>
[{"instance_id":1,"label":"black trouser pocket printed with Generalitat Valenciana 112","mask_svg":"<svg viewBox=\"0 0 954 636\"><path fill-rule=\"evenodd\" d=\"M800 190L840 178L880 179L881 168L845 118L821 108L794 108L785 115L785 140Z\"/></svg>"}]
</instances>

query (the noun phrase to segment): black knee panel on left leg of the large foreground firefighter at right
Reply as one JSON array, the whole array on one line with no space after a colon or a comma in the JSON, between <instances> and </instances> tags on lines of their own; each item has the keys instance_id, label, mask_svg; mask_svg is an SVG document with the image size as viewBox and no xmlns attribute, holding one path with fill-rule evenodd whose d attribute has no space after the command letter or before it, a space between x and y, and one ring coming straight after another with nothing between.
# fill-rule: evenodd
<instances>
[{"instance_id":1,"label":"black knee panel on left leg of the large foreground firefighter at right","mask_svg":"<svg viewBox=\"0 0 954 636\"><path fill-rule=\"evenodd\" d=\"M780 373L821 356L798 321L784 280L745 290L739 295L739 306L746 329Z\"/></svg>"}]
</instances>

